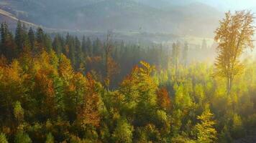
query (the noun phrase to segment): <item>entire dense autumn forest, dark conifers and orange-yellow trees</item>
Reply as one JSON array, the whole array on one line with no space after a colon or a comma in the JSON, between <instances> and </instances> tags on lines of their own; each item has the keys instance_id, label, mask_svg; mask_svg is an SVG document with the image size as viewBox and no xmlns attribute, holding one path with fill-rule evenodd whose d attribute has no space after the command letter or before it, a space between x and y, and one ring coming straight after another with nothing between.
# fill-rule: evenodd
<instances>
[{"instance_id":1,"label":"entire dense autumn forest, dark conifers and orange-yellow trees","mask_svg":"<svg viewBox=\"0 0 256 143\"><path fill-rule=\"evenodd\" d=\"M252 14L228 12L215 64L187 42L141 46L1 24L0 142L233 142L256 127ZM205 44L204 44L205 45ZM201 53L204 54L204 50Z\"/></svg>"}]
</instances>

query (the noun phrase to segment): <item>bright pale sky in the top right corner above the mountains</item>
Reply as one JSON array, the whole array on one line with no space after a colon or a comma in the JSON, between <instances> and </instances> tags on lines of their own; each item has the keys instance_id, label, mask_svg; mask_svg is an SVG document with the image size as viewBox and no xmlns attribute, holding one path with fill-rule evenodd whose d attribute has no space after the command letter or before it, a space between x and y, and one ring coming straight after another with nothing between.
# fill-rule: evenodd
<instances>
[{"instance_id":1,"label":"bright pale sky in the top right corner above the mountains","mask_svg":"<svg viewBox=\"0 0 256 143\"><path fill-rule=\"evenodd\" d=\"M256 11L256 0L196 0L205 4L209 4L218 9L227 10L241 10L251 9Z\"/></svg>"}]
</instances>

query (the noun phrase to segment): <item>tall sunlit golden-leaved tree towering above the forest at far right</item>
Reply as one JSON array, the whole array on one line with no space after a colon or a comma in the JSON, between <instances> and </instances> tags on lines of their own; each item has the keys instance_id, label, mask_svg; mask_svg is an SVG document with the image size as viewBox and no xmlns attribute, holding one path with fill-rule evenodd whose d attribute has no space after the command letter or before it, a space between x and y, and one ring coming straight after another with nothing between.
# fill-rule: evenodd
<instances>
[{"instance_id":1,"label":"tall sunlit golden-leaved tree towering above the forest at far right","mask_svg":"<svg viewBox=\"0 0 256 143\"><path fill-rule=\"evenodd\" d=\"M239 62L244 49L253 48L252 36L255 27L253 15L250 11L236 11L235 14L227 12L216 29L215 41L219 46L216 49L215 75L227 80L227 94L230 94L234 77L242 72Z\"/></svg>"}]
</instances>

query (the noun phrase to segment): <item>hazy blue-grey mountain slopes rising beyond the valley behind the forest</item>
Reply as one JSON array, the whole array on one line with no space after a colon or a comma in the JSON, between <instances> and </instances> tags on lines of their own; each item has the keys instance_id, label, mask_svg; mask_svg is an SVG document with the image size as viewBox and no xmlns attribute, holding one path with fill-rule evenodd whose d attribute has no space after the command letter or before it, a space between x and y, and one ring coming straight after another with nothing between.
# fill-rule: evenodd
<instances>
[{"instance_id":1,"label":"hazy blue-grey mountain slopes rising beyond the valley behind the forest","mask_svg":"<svg viewBox=\"0 0 256 143\"><path fill-rule=\"evenodd\" d=\"M201 37L212 37L223 16L196 0L0 0L0 6L18 19L52 29Z\"/></svg>"}]
</instances>

